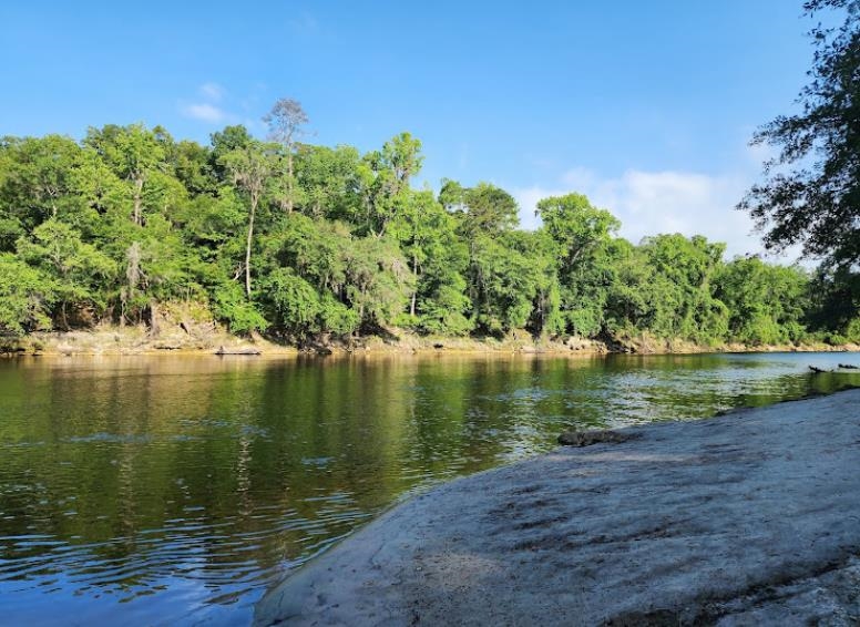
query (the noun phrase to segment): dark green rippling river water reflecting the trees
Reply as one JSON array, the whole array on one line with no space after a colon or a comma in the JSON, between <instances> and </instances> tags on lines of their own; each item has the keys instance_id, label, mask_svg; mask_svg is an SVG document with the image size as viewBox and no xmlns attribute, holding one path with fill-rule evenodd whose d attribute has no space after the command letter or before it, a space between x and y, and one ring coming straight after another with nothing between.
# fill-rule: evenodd
<instances>
[{"instance_id":1,"label":"dark green rippling river water reflecting the trees","mask_svg":"<svg viewBox=\"0 0 860 627\"><path fill-rule=\"evenodd\" d=\"M410 491L563 429L860 384L847 354L0 360L0 623L246 625Z\"/></svg>"}]
</instances>

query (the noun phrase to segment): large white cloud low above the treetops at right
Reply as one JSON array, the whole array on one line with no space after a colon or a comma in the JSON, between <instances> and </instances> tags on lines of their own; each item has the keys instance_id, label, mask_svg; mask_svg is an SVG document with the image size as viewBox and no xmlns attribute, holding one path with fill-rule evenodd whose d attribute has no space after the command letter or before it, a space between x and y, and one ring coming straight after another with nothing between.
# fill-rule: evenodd
<instances>
[{"instance_id":1,"label":"large white cloud low above the treetops at right","mask_svg":"<svg viewBox=\"0 0 860 627\"><path fill-rule=\"evenodd\" d=\"M704 235L713 241L725 241L727 256L731 257L764 253L760 236L752 233L752 220L735 209L754 179L751 167L748 173L727 175L629 169L616 177L601 177L577 167L566 172L559 185L521 188L514 191L514 196L525 228L540 224L540 218L534 216L538 201L579 192L588 196L595 206L618 217L620 234L631 241L638 243L645 236L661 233ZM797 251L779 260L789 263L795 257Z\"/></svg>"}]
</instances>

